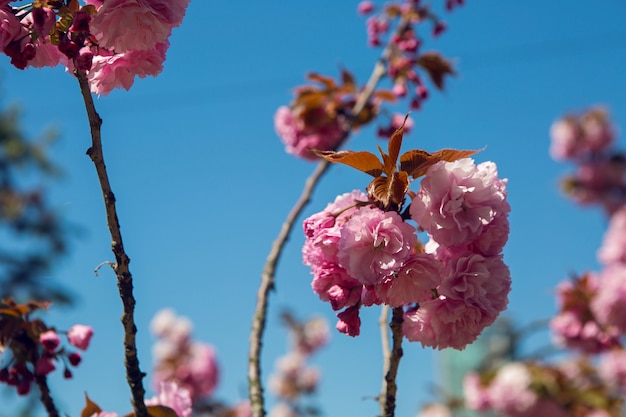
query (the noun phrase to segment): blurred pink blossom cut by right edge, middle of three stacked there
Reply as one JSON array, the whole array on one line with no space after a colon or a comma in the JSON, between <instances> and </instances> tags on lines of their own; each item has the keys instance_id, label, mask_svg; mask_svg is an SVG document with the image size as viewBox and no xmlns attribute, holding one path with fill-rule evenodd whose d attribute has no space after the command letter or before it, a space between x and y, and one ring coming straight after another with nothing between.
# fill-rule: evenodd
<instances>
[{"instance_id":1,"label":"blurred pink blossom cut by right edge, middle of three stacked there","mask_svg":"<svg viewBox=\"0 0 626 417\"><path fill-rule=\"evenodd\" d=\"M626 333L626 264L613 264L602 271L591 310L600 323Z\"/></svg>"}]
</instances>

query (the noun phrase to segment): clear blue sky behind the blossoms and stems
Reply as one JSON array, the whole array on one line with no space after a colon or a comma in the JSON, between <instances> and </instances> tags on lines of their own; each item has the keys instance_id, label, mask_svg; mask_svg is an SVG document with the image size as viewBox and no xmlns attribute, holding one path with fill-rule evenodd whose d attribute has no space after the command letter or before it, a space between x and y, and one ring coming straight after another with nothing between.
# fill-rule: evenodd
<instances>
[{"instance_id":1,"label":"clear blue sky behind the blossoms and stems","mask_svg":"<svg viewBox=\"0 0 626 417\"><path fill-rule=\"evenodd\" d=\"M154 341L148 323L160 308L172 307L194 322L197 339L216 347L222 368L216 395L229 401L246 396L261 269L314 169L285 154L273 114L291 101L291 89L306 72L337 75L345 66L365 82L379 51L366 46L356 5L192 1L171 38L163 73L96 100L135 278L144 370L150 371ZM455 60L459 75L413 113L416 126L404 147L486 146L475 159L495 161L501 177L509 178L505 261L513 290L507 314L520 323L554 312L559 280L597 267L606 220L559 194L558 179L568 167L549 158L548 129L562 113L599 103L626 126L625 17L626 4L619 0L469 0L445 16L449 30L428 41L427 49ZM78 85L60 68L18 71L8 61L0 59L4 104L22 107L29 132L52 126L61 133L53 155L65 176L53 185L52 202L78 229L70 255L50 277L72 288L77 306L52 309L47 318L59 328L79 322L96 330L75 379L51 377L53 393L72 416L79 415L84 391L123 414L130 410L130 394L122 366L121 303L113 273L93 274L113 256L97 178L85 155L89 131ZM371 151L376 143L368 128L347 147ZM364 174L333 167L305 215L368 182ZM302 242L297 228L279 265L263 356L266 377L287 348L281 309L300 317L323 315L334 326L330 307L310 290ZM378 412L372 399L381 383L378 310L364 313L361 336L333 331L330 345L315 358L323 371L317 403L327 416ZM547 340L543 334L536 343ZM397 415L415 415L430 398L434 361L431 350L405 345ZM3 399L2 415L10 407L5 404Z\"/></svg>"}]
</instances>

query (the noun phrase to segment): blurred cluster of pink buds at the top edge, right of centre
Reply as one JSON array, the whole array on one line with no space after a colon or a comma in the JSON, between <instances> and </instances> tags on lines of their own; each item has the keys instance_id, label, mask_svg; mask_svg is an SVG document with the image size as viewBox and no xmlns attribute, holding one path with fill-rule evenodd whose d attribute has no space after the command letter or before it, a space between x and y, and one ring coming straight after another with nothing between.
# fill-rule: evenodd
<instances>
[{"instance_id":1,"label":"blurred cluster of pink buds at the top edge, right of centre","mask_svg":"<svg viewBox=\"0 0 626 417\"><path fill-rule=\"evenodd\" d=\"M463 1L446 1L446 8L452 10ZM358 6L360 14L374 13L376 5L371 1L361 2ZM387 3L378 15L367 19L367 35L370 46L389 44L391 47L387 59L392 92L398 98L409 98L410 107L419 109L428 98L429 92L418 69L426 70L437 88L442 87L444 74L452 74L451 66L439 55L421 53L424 43L419 35L418 25L431 23L431 35L439 36L446 29L446 24L434 14L428 5L419 0ZM388 41L383 40L388 37ZM435 77L433 77L435 75Z\"/></svg>"}]
</instances>

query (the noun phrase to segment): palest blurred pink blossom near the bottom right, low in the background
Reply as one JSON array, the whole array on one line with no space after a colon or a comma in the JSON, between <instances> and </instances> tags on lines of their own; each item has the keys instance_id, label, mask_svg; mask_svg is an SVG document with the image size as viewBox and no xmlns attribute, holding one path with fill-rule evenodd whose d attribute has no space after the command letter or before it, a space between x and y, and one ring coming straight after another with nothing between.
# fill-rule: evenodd
<instances>
[{"instance_id":1,"label":"palest blurred pink blossom near the bottom right, low in the background","mask_svg":"<svg viewBox=\"0 0 626 417\"><path fill-rule=\"evenodd\" d=\"M519 415L537 403L537 394L530 389L532 378L528 368L519 362L505 364L489 384L491 407L506 415Z\"/></svg>"}]
</instances>

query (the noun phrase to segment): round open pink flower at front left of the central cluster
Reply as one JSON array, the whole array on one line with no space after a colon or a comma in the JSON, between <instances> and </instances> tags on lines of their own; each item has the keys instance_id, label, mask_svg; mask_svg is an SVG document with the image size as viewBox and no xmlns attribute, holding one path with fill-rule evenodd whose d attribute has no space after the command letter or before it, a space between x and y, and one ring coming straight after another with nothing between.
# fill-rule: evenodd
<instances>
[{"instance_id":1,"label":"round open pink flower at front left of the central cluster","mask_svg":"<svg viewBox=\"0 0 626 417\"><path fill-rule=\"evenodd\" d=\"M412 255L417 236L395 212L363 207L341 228L339 264L365 285L376 284Z\"/></svg>"}]
</instances>

